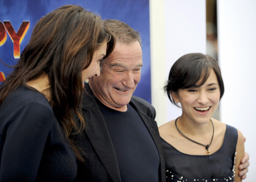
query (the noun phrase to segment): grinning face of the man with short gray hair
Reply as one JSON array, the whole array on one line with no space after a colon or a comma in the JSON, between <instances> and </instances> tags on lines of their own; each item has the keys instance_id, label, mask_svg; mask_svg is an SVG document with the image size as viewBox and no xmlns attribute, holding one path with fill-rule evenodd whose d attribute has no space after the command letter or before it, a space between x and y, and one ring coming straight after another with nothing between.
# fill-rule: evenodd
<instances>
[{"instance_id":1,"label":"grinning face of the man with short gray hair","mask_svg":"<svg viewBox=\"0 0 256 182\"><path fill-rule=\"evenodd\" d=\"M141 79L142 50L138 42L117 42L112 54L102 63L101 75L89 80L95 97L105 106L126 111Z\"/></svg>"}]
</instances>

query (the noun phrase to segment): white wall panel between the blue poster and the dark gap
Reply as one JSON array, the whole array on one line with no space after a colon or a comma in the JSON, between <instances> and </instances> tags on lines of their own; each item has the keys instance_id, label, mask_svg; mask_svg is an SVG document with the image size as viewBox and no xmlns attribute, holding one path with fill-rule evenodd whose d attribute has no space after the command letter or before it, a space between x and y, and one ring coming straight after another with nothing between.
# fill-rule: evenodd
<instances>
[{"instance_id":1,"label":"white wall panel between the blue poster and the dark gap","mask_svg":"<svg viewBox=\"0 0 256 182\"><path fill-rule=\"evenodd\" d=\"M152 105L160 126L181 115L163 92L171 66L184 54L206 53L206 1L150 2Z\"/></svg>"}]
</instances>

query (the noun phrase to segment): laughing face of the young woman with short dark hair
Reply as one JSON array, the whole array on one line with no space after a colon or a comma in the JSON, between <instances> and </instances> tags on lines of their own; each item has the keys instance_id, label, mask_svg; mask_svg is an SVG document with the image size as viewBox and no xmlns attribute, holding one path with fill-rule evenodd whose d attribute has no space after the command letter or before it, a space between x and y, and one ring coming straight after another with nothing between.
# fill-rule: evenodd
<instances>
[{"instance_id":1,"label":"laughing face of the young woman with short dark hair","mask_svg":"<svg viewBox=\"0 0 256 182\"><path fill-rule=\"evenodd\" d=\"M213 69L207 81L198 88L178 89L174 100L181 103L182 117L203 124L208 122L218 108L220 89Z\"/></svg>"}]
</instances>

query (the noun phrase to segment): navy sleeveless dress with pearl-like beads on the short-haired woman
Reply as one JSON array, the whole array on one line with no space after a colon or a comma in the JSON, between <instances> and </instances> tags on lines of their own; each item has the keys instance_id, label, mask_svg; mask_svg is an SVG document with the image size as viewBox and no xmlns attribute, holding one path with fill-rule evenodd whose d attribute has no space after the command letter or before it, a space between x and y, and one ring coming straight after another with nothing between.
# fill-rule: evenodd
<instances>
[{"instance_id":1,"label":"navy sleeveless dress with pearl-like beads on the short-haired woman","mask_svg":"<svg viewBox=\"0 0 256 182\"><path fill-rule=\"evenodd\" d=\"M233 182L237 129L226 125L221 148L211 155L188 155L162 141L166 182Z\"/></svg>"}]
</instances>

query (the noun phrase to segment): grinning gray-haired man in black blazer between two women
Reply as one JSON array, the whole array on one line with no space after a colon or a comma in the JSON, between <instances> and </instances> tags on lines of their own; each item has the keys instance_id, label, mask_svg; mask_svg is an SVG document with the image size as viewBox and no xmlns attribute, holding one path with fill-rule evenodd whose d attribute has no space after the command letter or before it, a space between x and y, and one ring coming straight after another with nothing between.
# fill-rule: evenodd
<instances>
[{"instance_id":1,"label":"grinning gray-haired man in black blazer between two women","mask_svg":"<svg viewBox=\"0 0 256 182\"><path fill-rule=\"evenodd\" d=\"M104 20L116 36L101 75L85 84L85 131L76 139L85 151L77 181L165 181L165 161L155 109L133 96L141 78L142 49L137 31L119 20Z\"/></svg>"}]
</instances>

